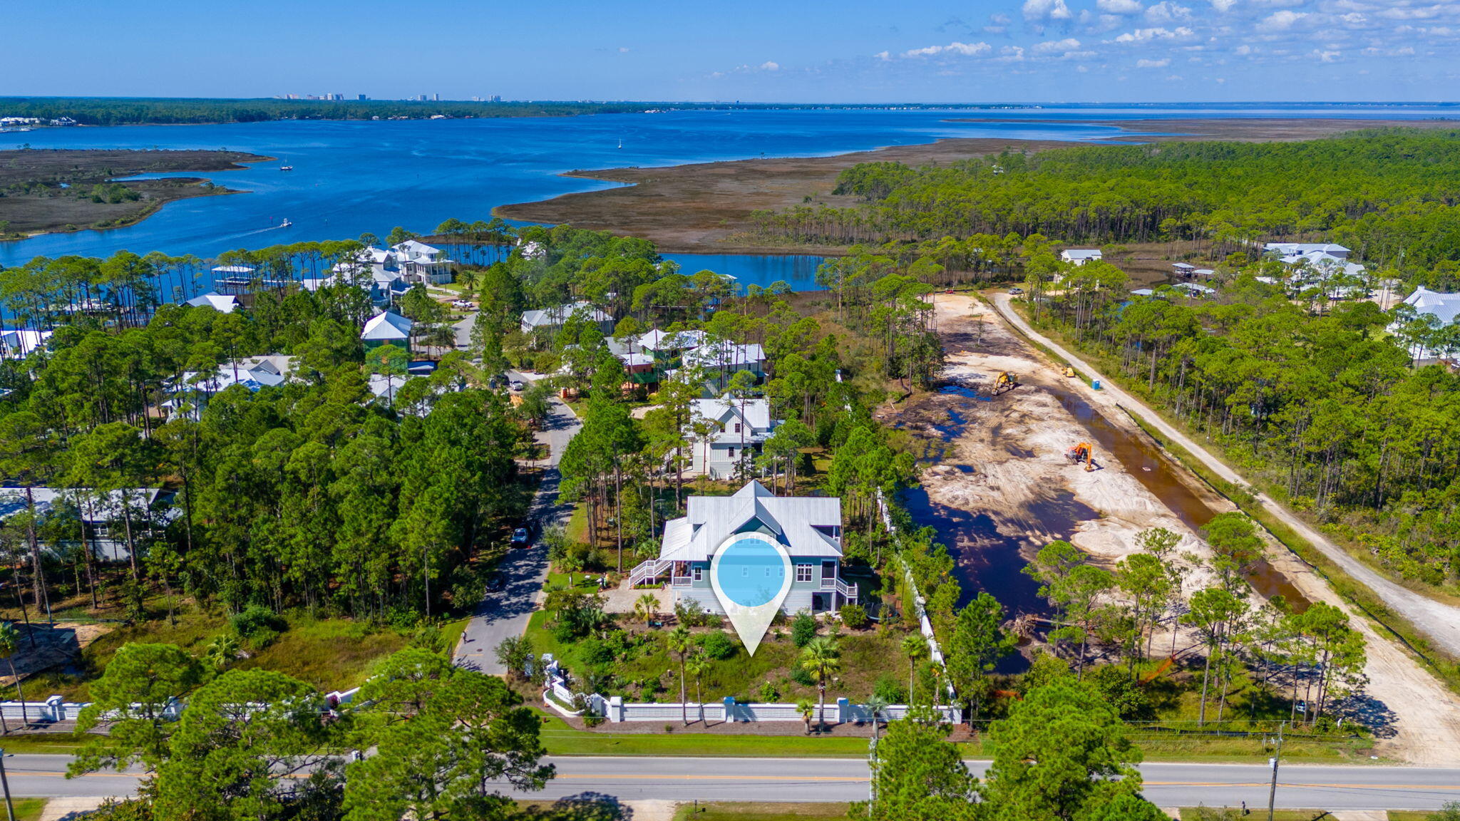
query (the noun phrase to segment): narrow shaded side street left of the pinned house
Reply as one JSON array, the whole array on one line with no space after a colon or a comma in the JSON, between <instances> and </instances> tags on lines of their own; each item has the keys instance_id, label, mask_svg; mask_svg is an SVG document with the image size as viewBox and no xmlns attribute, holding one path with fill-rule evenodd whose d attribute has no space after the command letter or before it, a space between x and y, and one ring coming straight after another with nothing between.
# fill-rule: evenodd
<instances>
[{"instance_id":1,"label":"narrow shaded side street left of the pinned house","mask_svg":"<svg viewBox=\"0 0 1460 821\"><path fill-rule=\"evenodd\" d=\"M512 380L530 381L531 374L508 371ZM558 460L562 459L568 441L583 428L583 422L572 409L556 397L550 399L552 410L543 429L537 431L537 441L548 444L548 469L543 472L542 485L533 498L531 517L543 527L565 524L572 513L571 505L558 504ZM456 649L457 665L474 665L477 669L492 675L507 672L496 663L493 652L496 646L510 635L521 635L527 630L527 619L537 609L543 583L548 580L548 549L534 543L527 549L511 551L498 565L507 577L505 586L488 593L472 614L472 621L461 633L461 643Z\"/></svg>"}]
</instances>

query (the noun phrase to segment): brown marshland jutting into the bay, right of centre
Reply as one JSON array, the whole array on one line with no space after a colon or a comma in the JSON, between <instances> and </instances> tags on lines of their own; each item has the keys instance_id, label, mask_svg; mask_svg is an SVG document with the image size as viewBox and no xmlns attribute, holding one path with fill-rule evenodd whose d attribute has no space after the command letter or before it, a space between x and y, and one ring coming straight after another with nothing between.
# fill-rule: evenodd
<instances>
[{"instance_id":1,"label":"brown marshland jutting into the bay, right of centre","mask_svg":"<svg viewBox=\"0 0 1460 821\"><path fill-rule=\"evenodd\" d=\"M950 118L950 123L1007 123L999 118ZM1307 140L1383 127L1460 127L1453 120L1346 118L1174 118L1152 120L1021 120L1021 123L1102 124L1139 142L1172 140ZM1180 131L1180 134L1167 134ZM493 216L571 224L653 240L661 251L688 254L816 254L840 256L838 245L762 244L750 234L755 210L850 206L856 197L835 196L837 175L860 162L953 162L1004 149L1037 152L1088 145L1089 140L1018 140L945 137L931 143L883 146L832 156L756 158L696 162L661 168L575 169L564 177L625 183L626 187L561 194L546 200L501 205Z\"/></svg>"}]
</instances>

